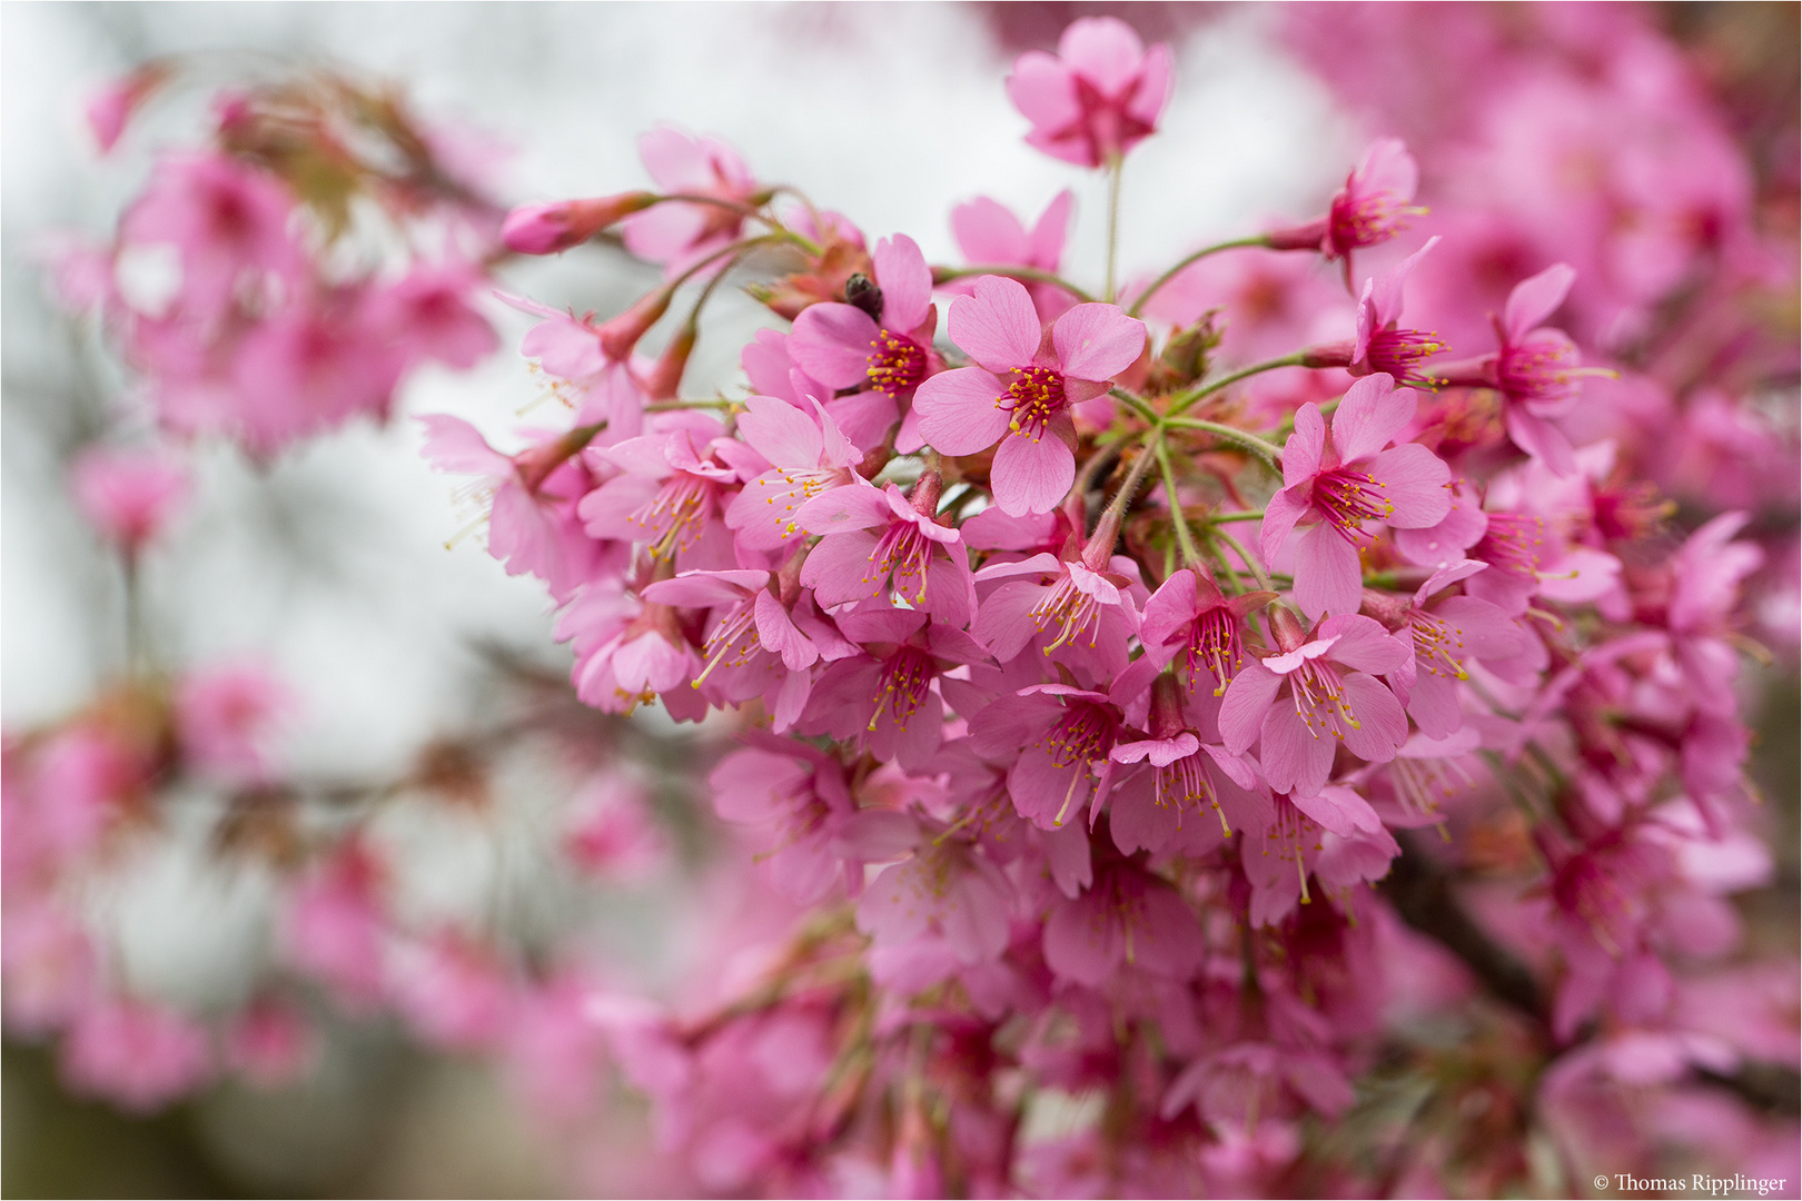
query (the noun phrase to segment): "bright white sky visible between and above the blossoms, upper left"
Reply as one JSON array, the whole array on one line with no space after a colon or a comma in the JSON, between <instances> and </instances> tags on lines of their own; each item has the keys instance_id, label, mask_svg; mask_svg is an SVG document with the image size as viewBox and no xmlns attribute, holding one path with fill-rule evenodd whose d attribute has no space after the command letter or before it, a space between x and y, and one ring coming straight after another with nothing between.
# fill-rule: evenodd
<instances>
[{"instance_id":1,"label":"bright white sky visible between and above the blossoms, upper left","mask_svg":"<svg viewBox=\"0 0 1802 1201\"><path fill-rule=\"evenodd\" d=\"M1270 13L1233 7L1179 47L1164 131L1128 162L1124 274L1306 216L1357 149L1324 90L1283 58ZM50 225L106 229L173 130L153 121L101 160L79 112L135 54L193 49L324 54L404 81L416 112L519 148L508 200L643 185L636 135L656 121L735 144L760 178L793 182L872 239L908 232L951 261L948 212L991 194L1033 218L1078 191L1067 270L1099 279L1103 180L1038 155L1002 88L1007 61L984 13L939 4L168 4L4 5L5 443L4 654L9 729L79 704L117 663L115 580L63 501L67 414L34 382L65 342L38 313L23 248ZM191 124L182 126L187 131ZM508 286L614 312L649 274L605 254L530 263ZM703 330L688 385L735 378L759 321L739 297ZM512 353L526 321L494 306L506 351L469 376L420 373L404 414L450 411L505 438L535 398ZM712 333L712 337L708 337ZM530 416L526 418L530 421ZM332 774L398 769L469 715L470 637L553 655L535 582L508 580L476 540L454 483L418 459L418 434L359 425L258 477L231 452L200 457L187 519L148 565L169 657L254 652L303 695L294 762ZM553 659L562 661L562 659Z\"/></svg>"}]
</instances>

